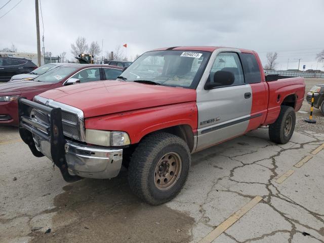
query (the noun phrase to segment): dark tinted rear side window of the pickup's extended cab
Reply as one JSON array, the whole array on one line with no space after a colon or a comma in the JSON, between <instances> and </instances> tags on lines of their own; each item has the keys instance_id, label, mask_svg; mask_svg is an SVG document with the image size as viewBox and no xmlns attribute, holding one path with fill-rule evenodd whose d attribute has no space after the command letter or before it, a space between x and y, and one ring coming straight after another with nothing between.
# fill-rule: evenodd
<instances>
[{"instance_id":1,"label":"dark tinted rear side window of the pickup's extended cab","mask_svg":"<svg viewBox=\"0 0 324 243\"><path fill-rule=\"evenodd\" d=\"M255 55L250 53L241 53L241 60L247 84L256 84L261 82L261 72Z\"/></svg>"}]
</instances>

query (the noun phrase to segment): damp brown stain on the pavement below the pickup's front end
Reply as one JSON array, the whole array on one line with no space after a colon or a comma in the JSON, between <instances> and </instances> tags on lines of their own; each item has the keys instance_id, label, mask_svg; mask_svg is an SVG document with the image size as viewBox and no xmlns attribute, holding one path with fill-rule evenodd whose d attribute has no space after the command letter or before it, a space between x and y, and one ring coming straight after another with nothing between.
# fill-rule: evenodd
<instances>
[{"instance_id":1,"label":"damp brown stain on the pavement below the pickup's front end","mask_svg":"<svg viewBox=\"0 0 324 243\"><path fill-rule=\"evenodd\" d=\"M194 220L168 207L149 206L130 190L127 173L111 180L84 179L54 198L51 233L32 242L188 242Z\"/></svg>"}]
</instances>

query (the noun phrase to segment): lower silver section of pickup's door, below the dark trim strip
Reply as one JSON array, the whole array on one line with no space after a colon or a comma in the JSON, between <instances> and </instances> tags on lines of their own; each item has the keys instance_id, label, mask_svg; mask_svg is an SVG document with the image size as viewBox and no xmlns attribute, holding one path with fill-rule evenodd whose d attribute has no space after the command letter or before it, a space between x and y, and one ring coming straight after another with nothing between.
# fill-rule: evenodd
<instances>
[{"instance_id":1,"label":"lower silver section of pickup's door, below the dark trim strip","mask_svg":"<svg viewBox=\"0 0 324 243\"><path fill-rule=\"evenodd\" d=\"M201 150L220 143L226 139L233 138L245 133L249 126L249 120L242 121L241 123L211 131L209 133L200 134L197 138L196 150Z\"/></svg>"}]
</instances>

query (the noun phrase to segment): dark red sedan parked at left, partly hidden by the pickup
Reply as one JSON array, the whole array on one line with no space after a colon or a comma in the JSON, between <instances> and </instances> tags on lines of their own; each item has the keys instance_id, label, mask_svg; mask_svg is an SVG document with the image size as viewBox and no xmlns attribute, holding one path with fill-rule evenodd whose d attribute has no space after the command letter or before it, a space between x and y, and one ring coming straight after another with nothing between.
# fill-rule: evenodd
<instances>
[{"instance_id":1,"label":"dark red sedan parked at left, partly hidden by the pickup","mask_svg":"<svg viewBox=\"0 0 324 243\"><path fill-rule=\"evenodd\" d=\"M66 64L50 70L33 80L7 83L0 86L0 125L18 126L18 98L32 100L47 90L75 83L116 79L122 67L109 65Z\"/></svg>"}]
</instances>

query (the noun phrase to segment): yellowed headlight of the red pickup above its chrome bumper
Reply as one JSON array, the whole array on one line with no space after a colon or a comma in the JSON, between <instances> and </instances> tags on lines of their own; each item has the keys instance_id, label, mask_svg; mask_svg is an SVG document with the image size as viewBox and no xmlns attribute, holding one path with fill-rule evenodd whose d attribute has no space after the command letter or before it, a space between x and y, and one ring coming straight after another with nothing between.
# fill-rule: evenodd
<instances>
[{"instance_id":1,"label":"yellowed headlight of the red pickup above its chrome bumper","mask_svg":"<svg viewBox=\"0 0 324 243\"><path fill-rule=\"evenodd\" d=\"M123 146L131 143L125 132L86 129L86 142L101 146Z\"/></svg>"}]
</instances>

